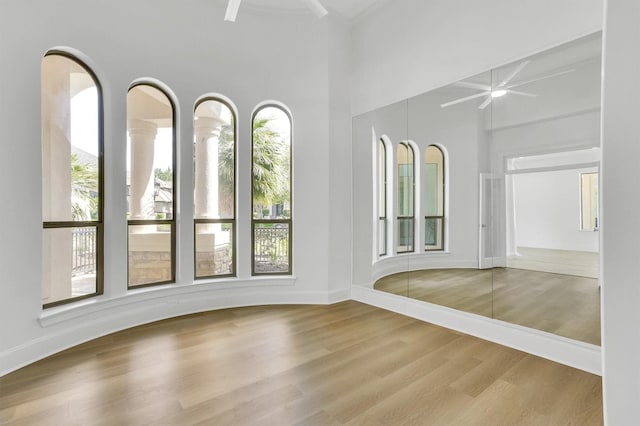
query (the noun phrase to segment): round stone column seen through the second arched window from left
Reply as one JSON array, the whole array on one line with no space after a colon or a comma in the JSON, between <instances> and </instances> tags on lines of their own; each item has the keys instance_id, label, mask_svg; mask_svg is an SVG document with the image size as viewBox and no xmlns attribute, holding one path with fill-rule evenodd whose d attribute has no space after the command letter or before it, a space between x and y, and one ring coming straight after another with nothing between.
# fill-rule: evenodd
<instances>
[{"instance_id":1,"label":"round stone column seen through the second arched window from left","mask_svg":"<svg viewBox=\"0 0 640 426\"><path fill-rule=\"evenodd\" d=\"M128 128L131 138L129 219L155 219L153 159L158 126L150 121L130 119Z\"/></svg>"}]
</instances>

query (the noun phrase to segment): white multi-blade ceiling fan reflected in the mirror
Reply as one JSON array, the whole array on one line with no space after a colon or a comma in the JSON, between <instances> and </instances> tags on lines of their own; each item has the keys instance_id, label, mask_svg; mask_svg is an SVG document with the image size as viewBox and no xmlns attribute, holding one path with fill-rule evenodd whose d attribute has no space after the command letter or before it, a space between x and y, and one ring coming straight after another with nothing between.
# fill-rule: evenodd
<instances>
[{"instance_id":1,"label":"white multi-blade ceiling fan reflected in the mirror","mask_svg":"<svg viewBox=\"0 0 640 426\"><path fill-rule=\"evenodd\" d=\"M507 93L510 93L512 95L529 96L531 98L535 98L538 95L533 93L521 92L519 90L513 90L513 89L515 87L520 87L520 86L524 86L525 84L533 83L534 81L546 80L547 78L557 77L559 75L568 74L570 72L575 71L575 68L571 68L571 69L558 71L553 74L547 74L540 77L532 78L531 80L519 81L517 83L509 84L511 80L513 80L513 78L516 75L518 75L520 71L524 69L524 67L529 65L530 62L531 60L520 62L518 66L514 68L511 74L509 74L504 80L502 80L496 87L491 87L488 84L473 83L470 81L458 81L456 83L453 83L454 86L478 89L478 90L482 90L482 92L476 93L471 96L465 96L464 98L455 99L453 101L445 102L441 104L440 107L445 108L451 105L456 105L462 102L470 101L472 99L481 98L484 96L486 97L486 99L482 101L482 103L478 106L478 109L485 109L494 98L499 98L501 96L506 95Z\"/></svg>"}]
</instances>

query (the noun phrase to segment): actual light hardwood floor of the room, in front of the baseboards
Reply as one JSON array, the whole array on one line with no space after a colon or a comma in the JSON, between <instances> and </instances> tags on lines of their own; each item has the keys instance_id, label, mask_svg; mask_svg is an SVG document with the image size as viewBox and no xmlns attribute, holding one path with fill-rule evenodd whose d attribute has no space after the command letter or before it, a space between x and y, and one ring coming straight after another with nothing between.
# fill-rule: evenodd
<instances>
[{"instance_id":1,"label":"actual light hardwood floor of the room, in front of the baseboards","mask_svg":"<svg viewBox=\"0 0 640 426\"><path fill-rule=\"evenodd\" d=\"M601 379L354 301L236 308L0 378L3 425L600 425Z\"/></svg>"}]
</instances>

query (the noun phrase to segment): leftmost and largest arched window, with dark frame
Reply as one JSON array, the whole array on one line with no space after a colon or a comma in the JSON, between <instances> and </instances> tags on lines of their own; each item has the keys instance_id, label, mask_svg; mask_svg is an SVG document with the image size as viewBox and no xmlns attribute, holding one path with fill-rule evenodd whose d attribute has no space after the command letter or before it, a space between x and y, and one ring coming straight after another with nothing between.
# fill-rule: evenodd
<instances>
[{"instance_id":1,"label":"leftmost and largest arched window, with dark frame","mask_svg":"<svg viewBox=\"0 0 640 426\"><path fill-rule=\"evenodd\" d=\"M42 60L42 302L102 294L102 89L66 52Z\"/></svg>"}]
</instances>

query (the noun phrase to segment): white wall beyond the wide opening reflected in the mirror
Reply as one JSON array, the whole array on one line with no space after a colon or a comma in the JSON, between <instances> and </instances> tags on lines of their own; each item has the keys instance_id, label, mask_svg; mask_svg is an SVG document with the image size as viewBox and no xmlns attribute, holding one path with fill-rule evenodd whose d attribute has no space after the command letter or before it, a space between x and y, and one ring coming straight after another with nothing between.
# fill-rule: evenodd
<instances>
[{"instance_id":1,"label":"white wall beyond the wide opening reflected in the mirror","mask_svg":"<svg viewBox=\"0 0 640 426\"><path fill-rule=\"evenodd\" d=\"M580 174L594 171L513 175L516 246L597 252L599 234L580 230Z\"/></svg>"}]
</instances>

